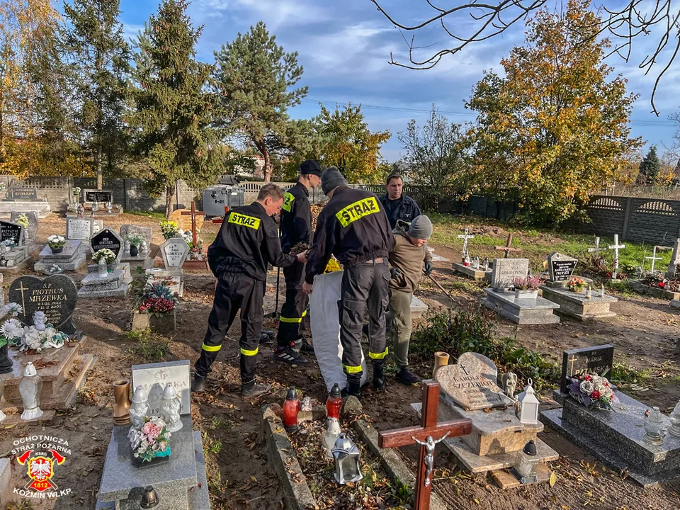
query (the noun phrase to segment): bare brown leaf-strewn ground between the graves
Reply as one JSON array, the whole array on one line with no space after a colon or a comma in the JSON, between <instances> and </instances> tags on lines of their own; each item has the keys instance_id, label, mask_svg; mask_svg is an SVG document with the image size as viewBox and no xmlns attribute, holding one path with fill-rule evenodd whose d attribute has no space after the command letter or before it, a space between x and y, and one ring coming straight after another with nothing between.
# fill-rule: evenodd
<instances>
[{"instance_id":1,"label":"bare brown leaf-strewn ground between the graves","mask_svg":"<svg viewBox=\"0 0 680 510\"><path fill-rule=\"evenodd\" d=\"M162 237L156 219L141 215L121 215L106 221L105 226L118 231L120 225L131 223L154 227L154 244ZM218 225L203 226L204 239L212 239ZM64 234L64 218L50 215L40 220L38 241L44 243L50 234ZM43 244L33 246L33 254ZM444 246L434 245L436 254L456 260L460 253ZM482 286L472 280L454 276L450 263L439 262L436 279L450 289L459 306L476 306L482 295ZM32 274L33 265L23 271ZM69 273L80 280L84 269ZM133 271L134 274L134 271ZM8 288L16 275L4 276ZM212 304L211 276L188 273L186 291L178 314L178 329L171 336L131 336L130 309L125 300L79 300L74 322L89 336L84 352L94 353L98 360L89 373L84 389L72 409L60 413L44 424L20 424L11 429L0 425L0 456L11 451L16 438L35 433L50 433L69 441L71 454L67 463L55 470L54 481L63 488L72 488L72 496L56 501L33 501L40 509L94 509L94 502L103 469L106 445L111 435L113 419L111 384L120 378L130 378L130 366L144 361L198 358L205 333L208 313ZM276 271L268 276L268 294L265 310L274 308ZM283 298L283 285L280 296ZM422 280L416 293L431 311L446 310L450 300L429 280ZM667 411L680 399L678 363L672 357L674 341L678 334L680 317L667 307L667 302L638 295L618 295L620 301L612 309L617 317L607 322L579 323L563 320L560 325L543 327L516 327L499 321L502 335L517 336L519 342L533 348L554 361L558 361L566 348L589 346L595 343L612 343L616 346L615 361L623 361L635 370L648 370L648 377L630 383L625 391L649 405L659 405ZM276 322L266 327L276 329ZM283 402L289 385L324 402L326 389L314 363L300 368L275 363L271 359L272 345L261 346L258 373L263 380L273 384L273 392L266 397L248 402L239 397L239 370L237 338L239 323L229 331L222 349L208 394L194 399L194 424L203 431L212 508L219 509L273 509L280 506L283 492L271 465L267 463L263 448L256 444L259 429L259 407L266 402ZM431 373L431 360L414 359L416 373ZM378 429L393 429L417 424L418 419L410 404L419 401L421 387L404 387L387 377L387 393L375 394L368 387L363 405ZM647 388L647 390L645 390ZM544 395L545 397L545 395ZM550 402L547 404L550 406ZM589 455L572 445L557 433L545 432L543 441L565 455L553 467L557 470L557 484L524 487L501 491L490 477L465 475L455 470L453 457L445 448L438 448L435 489L448 502L451 509L496 510L576 510L584 505L601 510L670 510L680 507L680 484L664 485L643 491L618 473L603 470ZM415 467L419 450L416 447L400 448L399 454ZM26 485L25 471L12 463L13 484Z\"/></svg>"}]
</instances>

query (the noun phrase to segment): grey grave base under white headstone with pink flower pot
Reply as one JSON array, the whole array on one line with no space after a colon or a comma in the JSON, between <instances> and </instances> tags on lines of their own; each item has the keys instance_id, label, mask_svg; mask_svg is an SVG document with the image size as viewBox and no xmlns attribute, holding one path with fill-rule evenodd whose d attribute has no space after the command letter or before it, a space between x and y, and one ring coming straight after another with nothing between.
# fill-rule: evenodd
<instances>
[{"instance_id":1,"label":"grey grave base under white headstone with pink flower pot","mask_svg":"<svg viewBox=\"0 0 680 510\"><path fill-rule=\"evenodd\" d=\"M560 317L553 314L553 310L559 309L560 305L543 297L521 299L516 298L511 292L501 293L490 288L484 291L487 297L482 300L482 304L517 324L557 324L560 322Z\"/></svg>"}]
</instances>

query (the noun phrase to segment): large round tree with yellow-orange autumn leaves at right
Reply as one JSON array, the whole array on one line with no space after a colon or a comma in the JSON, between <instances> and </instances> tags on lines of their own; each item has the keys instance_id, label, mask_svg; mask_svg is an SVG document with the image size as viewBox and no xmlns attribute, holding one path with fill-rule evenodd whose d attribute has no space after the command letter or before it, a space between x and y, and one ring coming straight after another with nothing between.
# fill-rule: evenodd
<instances>
[{"instance_id":1,"label":"large round tree with yellow-orange autumn leaves at right","mask_svg":"<svg viewBox=\"0 0 680 510\"><path fill-rule=\"evenodd\" d=\"M499 199L519 201L532 222L560 223L591 192L613 180L625 154L640 146L628 128L636 96L602 62L589 2L565 13L542 10L528 24L526 45L473 89L470 132L477 183ZM587 41L587 42L584 42Z\"/></svg>"}]
</instances>

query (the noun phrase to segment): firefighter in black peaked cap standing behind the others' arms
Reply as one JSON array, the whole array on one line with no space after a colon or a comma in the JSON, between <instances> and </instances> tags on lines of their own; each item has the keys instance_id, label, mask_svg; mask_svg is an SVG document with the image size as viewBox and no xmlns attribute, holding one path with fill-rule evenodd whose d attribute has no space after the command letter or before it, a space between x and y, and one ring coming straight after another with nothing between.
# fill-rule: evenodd
<instances>
[{"instance_id":1,"label":"firefighter in black peaked cap standing behind the others' arms","mask_svg":"<svg viewBox=\"0 0 680 510\"><path fill-rule=\"evenodd\" d=\"M312 210L310 189L321 182L321 165L307 159L300 165L297 184L283 195L281 207L281 248L287 254L295 244L312 242ZM305 264L294 263L283 269L285 279L285 302L281 307L273 358L291 365L307 363L299 352L313 353L314 348L302 339L302 317L307 310L307 294L302 292L305 280Z\"/></svg>"}]
</instances>

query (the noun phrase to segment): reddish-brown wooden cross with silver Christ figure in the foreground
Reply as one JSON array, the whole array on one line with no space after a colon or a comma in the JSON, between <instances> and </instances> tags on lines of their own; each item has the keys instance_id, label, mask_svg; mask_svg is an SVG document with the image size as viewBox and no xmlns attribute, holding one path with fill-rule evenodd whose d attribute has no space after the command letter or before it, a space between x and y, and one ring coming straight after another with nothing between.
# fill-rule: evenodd
<instances>
[{"instance_id":1,"label":"reddish-brown wooden cross with silver Christ figure in the foreground","mask_svg":"<svg viewBox=\"0 0 680 510\"><path fill-rule=\"evenodd\" d=\"M434 380L423 381L423 407L421 408L422 426L411 426L378 433L380 448L397 448L420 444L420 462L416 478L416 501L414 510L429 510L434 468L434 447L447 436L467 436L472 432L472 421L459 419L437 423L439 407L439 383Z\"/></svg>"}]
</instances>

